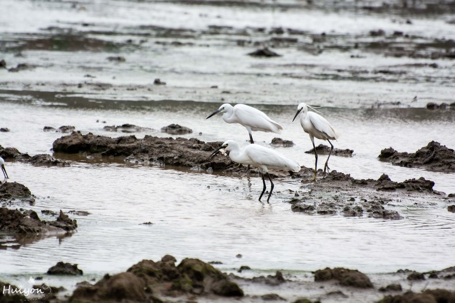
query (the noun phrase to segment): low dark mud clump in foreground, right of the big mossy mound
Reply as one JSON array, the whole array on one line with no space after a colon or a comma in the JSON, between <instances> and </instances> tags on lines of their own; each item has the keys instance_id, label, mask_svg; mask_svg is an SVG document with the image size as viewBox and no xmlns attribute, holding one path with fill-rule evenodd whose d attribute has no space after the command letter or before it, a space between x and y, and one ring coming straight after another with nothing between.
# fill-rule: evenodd
<instances>
[{"instance_id":1,"label":"low dark mud clump in foreground, right of the big mossy mound","mask_svg":"<svg viewBox=\"0 0 455 303\"><path fill-rule=\"evenodd\" d=\"M314 281L328 281L338 280L340 285L353 286L359 288L371 288L373 284L365 274L362 274L358 270L351 270L346 268L325 268L314 272Z\"/></svg>"}]
</instances>

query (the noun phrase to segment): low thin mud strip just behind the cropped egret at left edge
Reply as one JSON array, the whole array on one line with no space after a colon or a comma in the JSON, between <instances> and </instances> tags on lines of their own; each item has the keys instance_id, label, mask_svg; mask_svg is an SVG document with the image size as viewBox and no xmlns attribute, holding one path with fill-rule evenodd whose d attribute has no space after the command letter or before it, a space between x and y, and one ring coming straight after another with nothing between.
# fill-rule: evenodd
<instances>
[{"instance_id":1,"label":"low thin mud strip just behind the cropped egret at left edge","mask_svg":"<svg viewBox=\"0 0 455 303\"><path fill-rule=\"evenodd\" d=\"M0 145L0 157L5 161L18 161L24 163L30 163L37 166L59 166L65 167L70 166L69 161L57 160L48 154L39 154L30 156L26 153L21 153L17 148L14 147L2 147Z\"/></svg>"}]
</instances>

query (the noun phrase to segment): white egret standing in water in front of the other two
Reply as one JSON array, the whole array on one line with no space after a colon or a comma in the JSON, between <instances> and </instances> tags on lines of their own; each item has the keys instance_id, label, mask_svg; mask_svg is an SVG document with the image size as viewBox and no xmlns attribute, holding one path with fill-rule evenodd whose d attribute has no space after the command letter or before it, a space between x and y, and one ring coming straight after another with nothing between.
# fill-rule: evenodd
<instances>
[{"instance_id":1,"label":"white egret standing in water in front of the other two","mask_svg":"<svg viewBox=\"0 0 455 303\"><path fill-rule=\"evenodd\" d=\"M274 190L275 185L270 178L270 174L268 173L269 169L291 171L296 173L300 171L300 165L296 161L286 158L276 150L254 143L247 145L243 150L241 150L239 143L234 140L224 142L210 155L208 160L211 160L221 149L230 151L229 157L232 161L243 165L255 166L259 169L262 176L262 183L264 184L261 195L259 196L259 201L265 192L264 174L267 174L268 179L270 180L270 192L268 193L267 202L270 199L272 190Z\"/></svg>"}]
</instances>

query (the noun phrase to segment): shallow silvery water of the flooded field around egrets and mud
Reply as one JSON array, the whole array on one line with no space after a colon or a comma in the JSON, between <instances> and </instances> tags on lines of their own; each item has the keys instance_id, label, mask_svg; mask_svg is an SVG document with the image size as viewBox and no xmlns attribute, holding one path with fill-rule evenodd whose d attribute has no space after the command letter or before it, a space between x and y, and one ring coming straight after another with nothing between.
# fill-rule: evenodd
<instances>
[{"instance_id":1,"label":"shallow silvery water of the flooded field around egrets and mud","mask_svg":"<svg viewBox=\"0 0 455 303\"><path fill-rule=\"evenodd\" d=\"M73 125L83 133L120 136L125 134L103 127L124 123L150 128L135 133L137 137L168 136L160 128L178 123L194 131L184 137L247 144L243 127L225 124L220 116L205 120L223 102L247 103L282 124L279 136L296 144L277 149L311 167L314 157L303 153L311 142L298 121L291 122L296 105L305 101L324 106L320 110L341 134L335 146L354 150L352 158L331 157L333 170L355 178L386 173L394 181L423 176L435 181L436 190L455 192L454 174L401 168L377 159L389 146L413 152L435 140L455 147L455 111L425 109L428 102L453 102L453 62L431 60L426 53L419 53L422 58L390 57L367 48L378 39L370 30L379 28L386 32L379 39L390 40L397 30L415 36L412 41L393 40L403 49L453 37L453 25L445 15L384 18L352 10L334 14L292 2L277 9L268 3L5 5L23 17L8 14L0 21L2 58L8 68L20 63L34 67L17 73L0 69L0 127L11 130L0 133L2 146L31 155L52 154L52 142L62 134L44 132L44 126ZM274 48L283 57L245 55L270 46L274 34L268 31L279 26L303 32L296 45ZM322 32L327 40L317 42L316 35ZM50 41L54 44L48 45ZM353 47L355 42L359 48ZM18 52L23 57L15 56ZM108 61L109 56L123 56L125 62ZM437 68L429 66L433 63ZM153 85L155 78L167 85ZM218 88L210 88L213 85ZM275 137L253 136L265 146ZM73 164L45 168L8 163L11 181L36 195L33 209L83 210L90 215L73 216L79 228L67 237L3 236L7 245L22 246L0 252L0 279L42 274L58 261L77 263L88 277L100 277L164 254L221 261L224 270L241 265L256 271L342 266L382 273L453 266L454 246L447 240L455 236L453 215L432 201L425 208L395 201L394 208L404 217L399 221L307 216L290 211L289 189L306 190L292 179L275 182L275 194L270 204L264 204L257 201L262 182L256 177L136 166L111 158L55 157ZM325 160L320 157L320 167ZM243 257L236 258L237 254ZM68 283L74 285L73 280Z\"/></svg>"}]
</instances>

